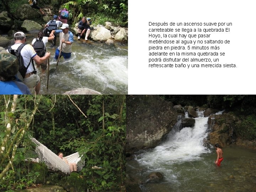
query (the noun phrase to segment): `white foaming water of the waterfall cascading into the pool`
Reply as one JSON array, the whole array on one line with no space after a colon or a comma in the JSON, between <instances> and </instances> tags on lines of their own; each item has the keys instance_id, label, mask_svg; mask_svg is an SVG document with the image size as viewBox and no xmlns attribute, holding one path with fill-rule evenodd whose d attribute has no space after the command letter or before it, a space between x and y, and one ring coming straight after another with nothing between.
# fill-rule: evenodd
<instances>
[{"instance_id":1,"label":"white foaming water of the waterfall cascading into the pool","mask_svg":"<svg viewBox=\"0 0 256 192\"><path fill-rule=\"evenodd\" d=\"M203 139L208 134L208 117L203 117L202 112L198 112L198 116L198 118L194 118L194 127L184 127L181 130L178 128L181 119L178 120L167 140L154 149L137 155L137 161L149 167L161 167L183 161L198 160L201 154L209 153L210 151L203 146Z\"/></svg>"}]
</instances>

